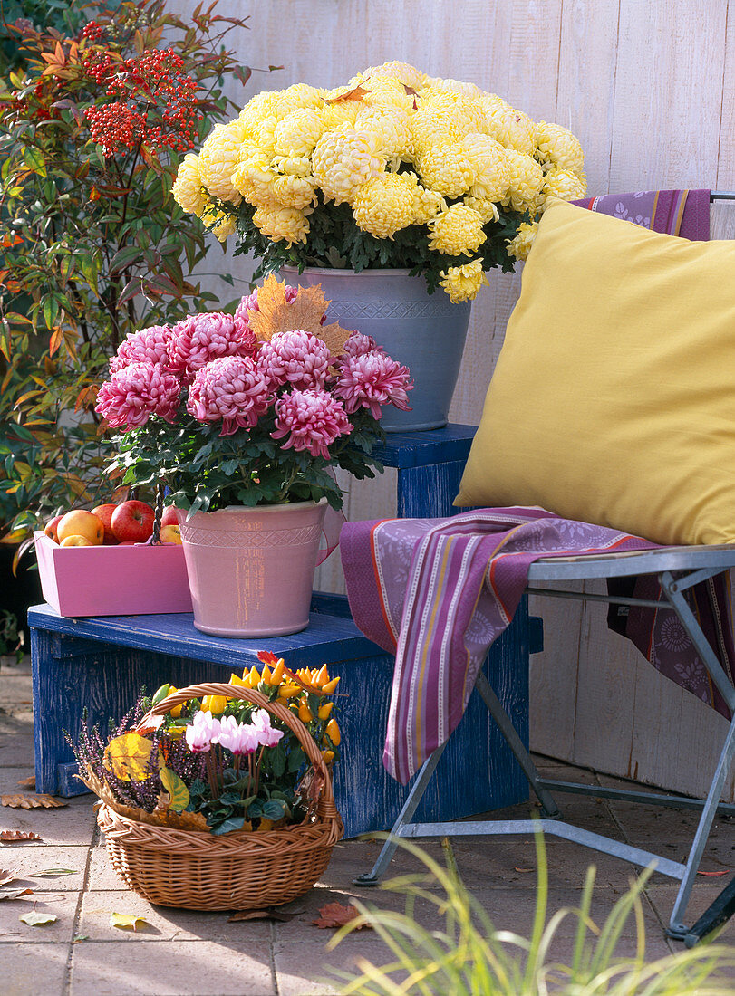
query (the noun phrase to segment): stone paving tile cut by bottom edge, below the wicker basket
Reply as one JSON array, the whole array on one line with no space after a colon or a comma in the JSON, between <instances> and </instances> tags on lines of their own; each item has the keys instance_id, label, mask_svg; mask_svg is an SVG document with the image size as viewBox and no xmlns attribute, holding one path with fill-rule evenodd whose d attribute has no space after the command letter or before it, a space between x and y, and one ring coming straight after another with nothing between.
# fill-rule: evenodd
<instances>
[{"instance_id":1,"label":"stone paving tile cut by bottom edge, below the wicker basket","mask_svg":"<svg viewBox=\"0 0 735 996\"><path fill-rule=\"evenodd\" d=\"M273 996L269 943L74 945L70 996ZM281 994L282 996L282 994Z\"/></svg>"}]
</instances>

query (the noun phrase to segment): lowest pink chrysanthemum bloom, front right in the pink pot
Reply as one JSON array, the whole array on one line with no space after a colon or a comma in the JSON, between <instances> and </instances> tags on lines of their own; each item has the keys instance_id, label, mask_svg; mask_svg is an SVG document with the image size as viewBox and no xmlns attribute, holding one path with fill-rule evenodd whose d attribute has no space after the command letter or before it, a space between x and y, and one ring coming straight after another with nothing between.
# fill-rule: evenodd
<instances>
[{"instance_id":1,"label":"lowest pink chrysanthemum bloom, front right in the pink pot","mask_svg":"<svg viewBox=\"0 0 735 996\"><path fill-rule=\"evenodd\" d=\"M312 456L329 459L330 446L352 426L341 401L326 390L294 390L275 402L276 420L273 439L288 436L283 449L306 449Z\"/></svg>"}]
</instances>

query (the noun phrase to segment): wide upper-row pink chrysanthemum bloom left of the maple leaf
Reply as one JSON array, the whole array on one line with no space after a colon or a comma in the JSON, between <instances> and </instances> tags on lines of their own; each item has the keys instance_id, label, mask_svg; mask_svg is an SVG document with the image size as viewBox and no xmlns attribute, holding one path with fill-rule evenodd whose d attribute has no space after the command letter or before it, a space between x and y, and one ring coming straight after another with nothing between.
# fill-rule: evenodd
<instances>
[{"instance_id":1,"label":"wide upper-row pink chrysanthemum bloom left of the maple leaf","mask_svg":"<svg viewBox=\"0 0 735 996\"><path fill-rule=\"evenodd\" d=\"M189 315L169 336L169 369L190 383L204 364L220 357L249 357L256 341L242 318L211 312Z\"/></svg>"}]
</instances>

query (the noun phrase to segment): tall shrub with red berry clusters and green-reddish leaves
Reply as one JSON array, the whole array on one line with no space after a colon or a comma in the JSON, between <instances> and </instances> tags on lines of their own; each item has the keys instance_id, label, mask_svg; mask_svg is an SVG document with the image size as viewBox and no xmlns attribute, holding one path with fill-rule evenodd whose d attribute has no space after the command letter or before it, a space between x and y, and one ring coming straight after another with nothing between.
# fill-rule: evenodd
<instances>
[{"instance_id":1,"label":"tall shrub with red berry clusters and green-reddish leaves","mask_svg":"<svg viewBox=\"0 0 735 996\"><path fill-rule=\"evenodd\" d=\"M171 189L228 111L224 78L250 73L246 25L214 7L184 20L164 0L92 0L77 34L15 26L24 62L0 83L0 490L15 508L0 531L12 512L31 530L98 498L108 357L212 300L192 276L208 236Z\"/></svg>"}]
</instances>

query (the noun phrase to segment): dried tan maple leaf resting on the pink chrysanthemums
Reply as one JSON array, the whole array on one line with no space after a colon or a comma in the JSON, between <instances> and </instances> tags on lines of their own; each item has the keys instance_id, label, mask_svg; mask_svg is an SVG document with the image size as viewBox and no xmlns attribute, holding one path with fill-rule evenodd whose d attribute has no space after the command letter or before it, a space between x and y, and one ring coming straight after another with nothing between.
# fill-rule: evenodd
<instances>
[{"instance_id":1,"label":"dried tan maple leaf resting on the pink chrysanthemums","mask_svg":"<svg viewBox=\"0 0 735 996\"><path fill-rule=\"evenodd\" d=\"M300 287L289 304L286 300L286 285L270 274L265 278L263 286L258 288L258 310L248 310L247 321L261 343L269 343L278 332L303 329L326 343L330 353L339 356L344 352L344 344L350 333L337 322L331 325L321 324L328 305L321 284L316 287Z\"/></svg>"}]
</instances>

